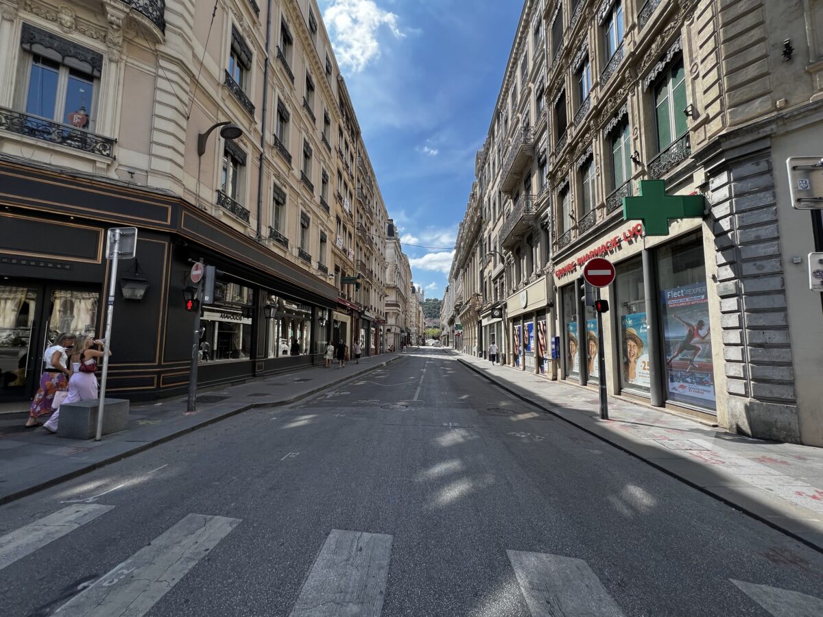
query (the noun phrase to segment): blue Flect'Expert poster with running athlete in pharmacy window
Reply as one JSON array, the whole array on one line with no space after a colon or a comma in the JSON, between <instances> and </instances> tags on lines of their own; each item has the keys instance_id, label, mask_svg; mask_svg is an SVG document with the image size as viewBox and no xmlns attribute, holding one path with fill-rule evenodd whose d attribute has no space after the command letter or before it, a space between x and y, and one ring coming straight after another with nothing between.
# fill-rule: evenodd
<instances>
[{"instance_id":1,"label":"blue Flect'Expert poster with running athlete in pharmacy window","mask_svg":"<svg viewBox=\"0 0 823 617\"><path fill-rule=\"evenodd\" d=\"M672 287L660 296L669 398L714 409L706 284Z\"/></svg>"}]
</instances>

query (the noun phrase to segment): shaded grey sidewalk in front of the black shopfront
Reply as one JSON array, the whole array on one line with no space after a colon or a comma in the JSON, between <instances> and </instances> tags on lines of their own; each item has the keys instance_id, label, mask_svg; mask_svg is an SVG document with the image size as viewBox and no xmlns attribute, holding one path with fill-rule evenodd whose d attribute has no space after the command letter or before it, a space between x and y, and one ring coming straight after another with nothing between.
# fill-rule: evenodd
<instances>
[{"instance_id":1,"label":"shaded grey sidewalk in front of the black shopfront","mask_svg":"<svg viewBox=\"0 0 823 617\"><path fill-rule=\"evenodd\" d=\"M201 429L256 407L289 405L362 373L384 367L402 354L349 362L344 369L313 366L235 387L198 392L198 411L186 412L186 397L133 405L128 430L93 439L59 438L42 428L23 429L27 413L0 416L0 503L80 476L110 462Z\"/></svg>"}]
</instances>

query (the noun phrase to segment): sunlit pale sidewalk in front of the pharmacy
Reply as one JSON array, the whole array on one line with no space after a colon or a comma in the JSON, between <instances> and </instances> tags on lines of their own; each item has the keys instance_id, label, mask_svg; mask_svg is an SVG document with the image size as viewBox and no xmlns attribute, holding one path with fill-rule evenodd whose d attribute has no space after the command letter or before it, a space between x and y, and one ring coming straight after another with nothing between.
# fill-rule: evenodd
<instances>
[{"instance_id":1,"label":"sunlit pale sidewalk in front of the pharmacy","mask_svg":"<svg viewBox=\"0 0 823 617\"><path fill-rule=\"evenodd\" d=\"M823 551L823 448L730 434L616 397L600 420L596 390L448 351L515 396Z\"/></svg>"}]
</instances>

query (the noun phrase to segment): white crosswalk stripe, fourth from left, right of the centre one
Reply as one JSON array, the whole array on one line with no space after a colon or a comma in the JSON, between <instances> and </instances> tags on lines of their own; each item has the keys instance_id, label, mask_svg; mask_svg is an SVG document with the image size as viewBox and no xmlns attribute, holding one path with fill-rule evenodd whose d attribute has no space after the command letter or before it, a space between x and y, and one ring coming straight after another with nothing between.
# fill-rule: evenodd
<instances>
[{"instance_id":1,"label":"white crosswalk stripe, fourth from left, right of the centre one","mask_svg":"<svg viewBox=\"0 0 823 617\"><path fill-rule=\"evenodd\" d=\"M623 617L583 559L507 550L532 617Z\"/></svg>"}]
</instances>

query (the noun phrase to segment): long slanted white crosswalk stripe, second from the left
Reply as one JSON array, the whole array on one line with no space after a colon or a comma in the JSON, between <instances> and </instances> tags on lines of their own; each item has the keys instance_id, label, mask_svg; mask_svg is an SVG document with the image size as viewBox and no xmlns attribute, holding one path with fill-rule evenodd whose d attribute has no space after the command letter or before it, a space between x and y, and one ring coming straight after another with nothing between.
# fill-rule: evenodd
<instances>
[{"instance_id":1,"label":"long slanted white crosswalk stripe, second from the left","mask_svg":"<svg viewBox=\"0 0 823 617\"><path fill-rule=\"evenodd\" d=\"M188 514L55 615L146 615L200 559L240 523L239 518Z\"/></svg>"}]
</instances>

